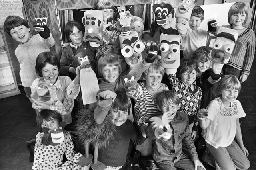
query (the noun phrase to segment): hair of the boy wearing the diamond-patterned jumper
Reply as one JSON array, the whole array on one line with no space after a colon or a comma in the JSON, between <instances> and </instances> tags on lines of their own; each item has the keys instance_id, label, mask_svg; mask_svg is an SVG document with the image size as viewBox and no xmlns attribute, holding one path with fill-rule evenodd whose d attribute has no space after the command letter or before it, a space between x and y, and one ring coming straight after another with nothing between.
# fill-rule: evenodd
<instances>
[{"instance_id":1,"label":"hair of the boy wearing the diamond-patterned jumper","mask_svg":"<svg viewBox=\"0 0 256 170\"><path fill-rule=\"evenodd\" d=\"M180 79L180 76L184 72L191 73L193 69L198 73L198 67L196 66L196 61L193 59L181 59L180 67L177 69L177 77Z\"/></svg>"}]
</instances>

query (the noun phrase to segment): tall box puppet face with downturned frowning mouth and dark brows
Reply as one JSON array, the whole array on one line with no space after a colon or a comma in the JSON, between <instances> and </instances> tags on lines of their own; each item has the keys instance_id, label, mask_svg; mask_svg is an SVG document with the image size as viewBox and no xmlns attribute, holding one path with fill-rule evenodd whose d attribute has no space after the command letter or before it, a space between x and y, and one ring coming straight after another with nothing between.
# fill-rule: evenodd
<instances>
[{"instance_id":1,"label":"tall box puppet face with downturned frowning mouth and dark brows","mask_svg":"<svg viewBox=\"0 0 256 170\"><path fill-rule=\"evenodd\" d=\"M84 12L84 17L82 18L85 34L83 37L84 42L94 42L90 43L93 47L99 47L102 45L103 37L103 14L99 10L87 10Z\"/></svg>"}]
</instances>

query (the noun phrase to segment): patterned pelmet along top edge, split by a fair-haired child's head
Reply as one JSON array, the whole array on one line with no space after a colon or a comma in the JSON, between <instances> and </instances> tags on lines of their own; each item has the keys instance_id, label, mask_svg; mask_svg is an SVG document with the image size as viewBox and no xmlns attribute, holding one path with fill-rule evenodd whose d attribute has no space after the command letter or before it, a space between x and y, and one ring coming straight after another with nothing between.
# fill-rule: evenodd
<instances>
[{"instance_id":1,"label":"patterned pelmet along top edge, split by a fair-haired child's head","mask_svg":"<svg viewBox=\"0 0 256 170\"><path fill-rule=\"evenodd\" d=\"M151 4L152 0L110 0L114 6ZM93 8L96 0L56 0L58 10Z\"/></svg>"}]
</instances>

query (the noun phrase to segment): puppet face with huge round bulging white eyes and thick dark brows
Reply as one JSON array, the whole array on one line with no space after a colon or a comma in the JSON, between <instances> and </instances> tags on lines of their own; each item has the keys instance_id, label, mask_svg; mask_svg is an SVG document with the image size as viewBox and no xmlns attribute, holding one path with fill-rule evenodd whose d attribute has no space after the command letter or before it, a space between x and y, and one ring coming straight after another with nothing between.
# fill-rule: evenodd
<instances>
[{"instance_id":1,"label":"puppet face with huge round bulging white eyes and thick dark brows","mask_svg":"<svg viewBox=\"0 0 256 170\"><path fill-rule=\"evenodd\" d=\"M139 39L138 33L135 31L131 31L129 35L119 35L119 43L124 57L131 57L134 51L141 53L145 48L144 42Z\"/></svg>"}]
</instances>

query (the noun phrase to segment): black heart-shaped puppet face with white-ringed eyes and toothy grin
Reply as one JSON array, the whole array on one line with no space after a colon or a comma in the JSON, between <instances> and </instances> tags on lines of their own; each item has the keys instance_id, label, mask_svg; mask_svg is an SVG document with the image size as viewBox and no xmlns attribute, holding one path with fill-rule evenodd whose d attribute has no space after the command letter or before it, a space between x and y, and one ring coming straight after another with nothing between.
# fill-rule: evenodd
<instances>
[{"instance_id":1,"label":"black heart-shaped puppet face with white-ringed eyes and toothy grin","mask_svg":"<svg viewBox=\"0 0 256 170\"><path fill-rule=\"evenodd\" d=\"M160 4L154 4L153 12L156 17L156 23L158 25L166 24L166 18L174 10L170 4L165 4L163 7Z\"/></svg>"}]
</instances>

